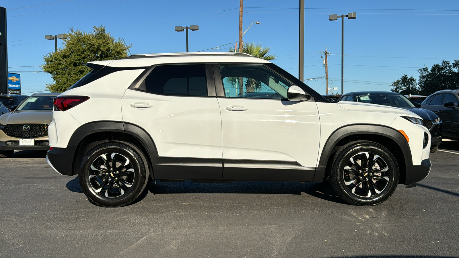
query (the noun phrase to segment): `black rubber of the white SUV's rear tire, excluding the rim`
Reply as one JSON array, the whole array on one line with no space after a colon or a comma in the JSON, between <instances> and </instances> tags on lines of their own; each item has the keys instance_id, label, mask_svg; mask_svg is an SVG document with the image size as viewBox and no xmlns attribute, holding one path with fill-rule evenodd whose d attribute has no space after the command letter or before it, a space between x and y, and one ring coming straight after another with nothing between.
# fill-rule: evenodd
<instances>
[{"instance_id":1,"label":"black rubber of the white SUV's rear tire, excluding the rim","mask_svg":"<svg viewBox=\"0 0 459 258\"><path fill-rule=\"evenodd\" d=\"M126 191L122 196L118 197L105 197L96 193L92 188L89 180L89 171L91 164L95 159L104 153L116 152L129 159L134 167L134 182L132 187ZM119 142L107 142L95 146L83 158L81 163L78 179L81 189L89 200L95 204L106 207L119 207L133 202L140 196L145 188L146 182L146 169L145 164L140 154L128 145Z\"/></svg>"}]
</instances>

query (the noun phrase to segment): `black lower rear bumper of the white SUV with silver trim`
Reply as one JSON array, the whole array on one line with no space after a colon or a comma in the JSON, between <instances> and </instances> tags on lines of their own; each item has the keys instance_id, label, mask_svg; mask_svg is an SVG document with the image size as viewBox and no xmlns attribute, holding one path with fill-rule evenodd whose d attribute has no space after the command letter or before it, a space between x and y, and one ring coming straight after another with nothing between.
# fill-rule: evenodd
<instances>
[{"instance_id":1,"label":"black lower rear bumper of the white SUV with silver trim","mask_svg":"<svg viewBox=\"0 0 459 258\"><path fill-rule=\"evenodd\" d=\"M57 173L63 175L73 175L73 156L75 154L75 147L68 146L67 148L53 148L48 151L46 161Z\"/></svg>"}]
</instances>

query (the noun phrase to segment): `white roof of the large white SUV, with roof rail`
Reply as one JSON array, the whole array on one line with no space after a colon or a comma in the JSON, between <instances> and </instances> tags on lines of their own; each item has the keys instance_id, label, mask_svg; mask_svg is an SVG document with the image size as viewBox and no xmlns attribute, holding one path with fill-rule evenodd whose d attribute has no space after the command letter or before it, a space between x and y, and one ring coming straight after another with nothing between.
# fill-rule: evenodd
<instances>
[{"instance_id":1,"label":"white roof of the large white SUV, with roof rail","mask_svg":"<svg viewBox=\"0 0 459 258\"><path fill-rule=\"evenodd\" d=\"M235 52L195 52L195 53L162 53L132 55L119 60L95 61L88 64L109 67L149 67L164 63L196 63L196 62L239 62L239 63L270 63L246 53Z\"/></svg>"}]
</instances>

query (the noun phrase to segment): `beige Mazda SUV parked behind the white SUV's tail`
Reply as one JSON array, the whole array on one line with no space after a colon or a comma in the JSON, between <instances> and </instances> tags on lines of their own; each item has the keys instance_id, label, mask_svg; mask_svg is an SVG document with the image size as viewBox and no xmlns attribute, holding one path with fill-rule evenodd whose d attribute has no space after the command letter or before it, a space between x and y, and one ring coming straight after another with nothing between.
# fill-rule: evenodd
<instances>
[{"instance_id":1,"label":"beige Mazda SUV parked behind the white SUV's tail","mask_svg":"<svg viewBox=\"0 0 459 258\"><path fill-rule=\"evenodd\" d=\"M0 116L0 157L12 157L15 150L49 150L48 125L54 97L60 93L29 96L13 112Z\"/></svg>"}]
</instances>

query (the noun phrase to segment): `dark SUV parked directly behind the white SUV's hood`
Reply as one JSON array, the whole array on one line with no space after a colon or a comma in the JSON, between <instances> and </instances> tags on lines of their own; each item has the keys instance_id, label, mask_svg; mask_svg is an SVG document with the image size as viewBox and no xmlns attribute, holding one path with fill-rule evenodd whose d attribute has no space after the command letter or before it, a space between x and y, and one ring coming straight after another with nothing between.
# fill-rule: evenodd
<instances>
[{"instance_id":1,"label":"dark SUV parked directly behind the white SUV's hood","mask_svg":"<svg viewBox=\"0 0 459 258\"><path fill-rule=\"evenodd\" d=\"M432 135L431 153L442 143L442 120L433 112L419 108L406 96L391 91L359 91L341 96L338 101L356 101L408 109L422 118L422 124Z\"/></svg>"}]
</instances>

